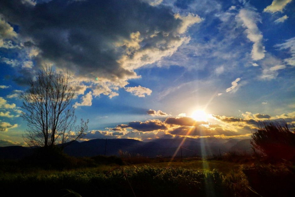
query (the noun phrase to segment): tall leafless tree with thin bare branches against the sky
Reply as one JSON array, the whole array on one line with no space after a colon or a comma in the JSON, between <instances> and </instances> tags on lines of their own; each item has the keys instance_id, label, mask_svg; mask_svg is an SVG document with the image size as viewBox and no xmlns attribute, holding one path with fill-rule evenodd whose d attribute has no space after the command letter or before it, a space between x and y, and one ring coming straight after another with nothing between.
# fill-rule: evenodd
<instances>
[{"instance_id":1,"label":"tall leafless tree with thin bare branches against the sky","mask_svg":"<svg viewBox=\"0 0 295 197\"><path fill-rule=\"evenodd\" d=\"M89 120L81 119L81 124L76 125L71 103L74 89L69 73L54 71L45 64L28 86L28 91L21 95L25 109L21 117L27 121L23 139L29 146L53 148L57 143L65 144L85 135Z\"/></svg>"}]
</instances>

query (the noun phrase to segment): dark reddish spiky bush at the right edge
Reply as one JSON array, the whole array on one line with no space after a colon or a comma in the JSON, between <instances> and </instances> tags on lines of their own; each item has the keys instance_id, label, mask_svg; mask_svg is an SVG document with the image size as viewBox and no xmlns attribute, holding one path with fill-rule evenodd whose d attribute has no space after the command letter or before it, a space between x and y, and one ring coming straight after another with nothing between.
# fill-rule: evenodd
<instances>
[{"instance_id":1,"label":"dark reddish spiky bush at the right edge","mask_svg":"<svg viewBox=\"0 0 295 197\"><path fill-rule=\"evenodd\" d=\"M295 160L295 129L286 122L263 122L252 134L251 144L273 160Z\"/></svg>"}]
</instances>

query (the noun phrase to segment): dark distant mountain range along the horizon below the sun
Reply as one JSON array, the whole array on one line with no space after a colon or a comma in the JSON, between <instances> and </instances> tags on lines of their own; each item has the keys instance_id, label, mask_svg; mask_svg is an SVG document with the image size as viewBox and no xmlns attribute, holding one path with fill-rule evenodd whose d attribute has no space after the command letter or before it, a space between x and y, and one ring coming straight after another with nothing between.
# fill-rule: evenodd
<instances>
[{"instance_id":1,"label":"dark distant mountain range along the horizon below the sun","mask_svg":"<svg viewBox=\"0 0 295 197\"><path fill-rule=\"evenodd\" d=\"M75 157L95 155L119 155L119 150L132 155L148 157L162 156L208 156L219 155L220 150L250 150L250 139L221 138L177 138L138 141L135 139L92 139L72 141L64 152ZM181 148L180 148L181 147ZM0 159L19 159L31 154L30 148L21 146L0 147Z\"/></svg>"}]
</instances>

